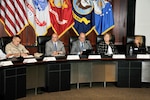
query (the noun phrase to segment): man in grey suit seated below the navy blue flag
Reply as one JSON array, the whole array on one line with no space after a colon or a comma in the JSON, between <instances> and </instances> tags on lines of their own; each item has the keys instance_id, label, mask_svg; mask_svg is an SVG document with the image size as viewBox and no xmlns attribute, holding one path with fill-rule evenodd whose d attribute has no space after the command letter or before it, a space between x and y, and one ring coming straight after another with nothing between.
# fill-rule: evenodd
<instances>
[{"instance_id":1,"label":"man in grey suit seated below the navy blue flag","mask_svg":"<svg viewBox=\"0 0 150 100\"><path fill-rule=\"evenodd\" d=\"M71 48L71 54L82 55L83 51L87 49L92 49L91 43L89 40L86 40L84 33L80 33L78 40L74 41Z\"/></svg>"}]
</instances>

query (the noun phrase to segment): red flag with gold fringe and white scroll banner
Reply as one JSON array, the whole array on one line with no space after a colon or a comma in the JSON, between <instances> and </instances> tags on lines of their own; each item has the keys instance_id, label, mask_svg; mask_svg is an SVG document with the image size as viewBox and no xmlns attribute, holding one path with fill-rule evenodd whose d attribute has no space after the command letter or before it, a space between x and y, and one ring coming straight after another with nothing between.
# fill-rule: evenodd
<instances>
[{"instance_id":1,"label":"red flag with gold fringe and white scroll banner","mask_svg":"<svg viewBox=\"0 0 150 100\"><path fill-rule=\"evenodd\" d=\"M72 5L70 0L49 0L50 19L53 30L61 37L73 26Z\"/></svg>"}]
</instances>

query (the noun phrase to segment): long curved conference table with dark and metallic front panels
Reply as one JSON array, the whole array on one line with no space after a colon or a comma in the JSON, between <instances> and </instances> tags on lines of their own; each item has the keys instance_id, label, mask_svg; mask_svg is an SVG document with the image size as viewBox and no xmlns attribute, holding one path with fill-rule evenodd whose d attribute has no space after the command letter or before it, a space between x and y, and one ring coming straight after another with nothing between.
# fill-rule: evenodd
<instances>
[{"instance_id":1,"label":"long curved conference table with dark and metallic front panels","mask_svg":"<svg viewBox=\"0 0 150 100\"><path fill-rule=\"evenodd\" d=\"M39 80L42 85L36 87L44 87L47 92L70 90L71 84L76 84L79 89L81 83L89 83L92 87L94 82L104 82L106 87L107 82L115 82L117 87L141 88L143 82L150 82L150 55L79 59L69 59L68 56L1 60L0 98L25 97L29 89L27 84L34 83L35 86ZM3 65L5 62L12 64Z\"/></svg>"}]
</instances>

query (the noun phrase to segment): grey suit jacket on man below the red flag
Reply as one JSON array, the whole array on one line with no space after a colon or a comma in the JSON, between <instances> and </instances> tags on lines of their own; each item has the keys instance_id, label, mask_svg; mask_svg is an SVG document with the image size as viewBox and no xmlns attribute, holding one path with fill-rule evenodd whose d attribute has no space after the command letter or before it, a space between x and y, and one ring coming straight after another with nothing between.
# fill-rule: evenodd
<instances>
[{"instance_id":1,"label":"grey suit jacket on man below the red flag","mask_svg":"<svg viewBox=\"0 0 150 100\"><path fill-rule=\"evenodd\" d=\"M51 56L54 51L55 51L54 44L52 40L49 40L48 42L46 42L45 55ZM57 51L62 51L64 55L66 53L64 44L60 40L57 41Z\"/></svg>"}]
</instances>

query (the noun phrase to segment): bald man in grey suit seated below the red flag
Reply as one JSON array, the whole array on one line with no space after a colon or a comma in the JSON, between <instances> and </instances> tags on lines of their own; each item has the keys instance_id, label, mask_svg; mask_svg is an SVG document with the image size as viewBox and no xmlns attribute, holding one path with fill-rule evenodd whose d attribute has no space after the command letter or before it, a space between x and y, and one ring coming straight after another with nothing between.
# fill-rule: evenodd
<instances>
[{"instance_id":1,"label":"bald man in grey suit seated below the red flag","mask_svg":"<svg viewBox=\"0 0 150 100\"><path fill-rule=\"evenodd\" d=\"M58 39L56 33L52 34L52 39L46 42L45 55L46 56L58 56L65 55L66 51L64 44Z\"/></svg>"}]
</instances>

